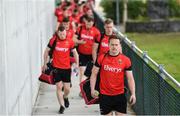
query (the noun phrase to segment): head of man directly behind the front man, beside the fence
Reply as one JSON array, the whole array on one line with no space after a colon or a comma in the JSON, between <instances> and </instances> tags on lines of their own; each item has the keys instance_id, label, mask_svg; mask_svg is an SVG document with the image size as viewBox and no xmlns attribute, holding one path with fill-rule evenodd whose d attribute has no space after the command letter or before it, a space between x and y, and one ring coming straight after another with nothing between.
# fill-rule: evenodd
<instances>
[{"instance_id":1,"label":"head of man directly behind the front man, beside the fence","mask_svg":"<svg viewBox=\"0 0 180 116\"><path fill-rule=\"evenodd\" d=\"M113 26L114 26L114 23L113 23L113 20L108 18L105 20L104 22L104 29L105 29L105 33L106 35L112 35L113 33Z\"/></svg>"}]
</instances>

